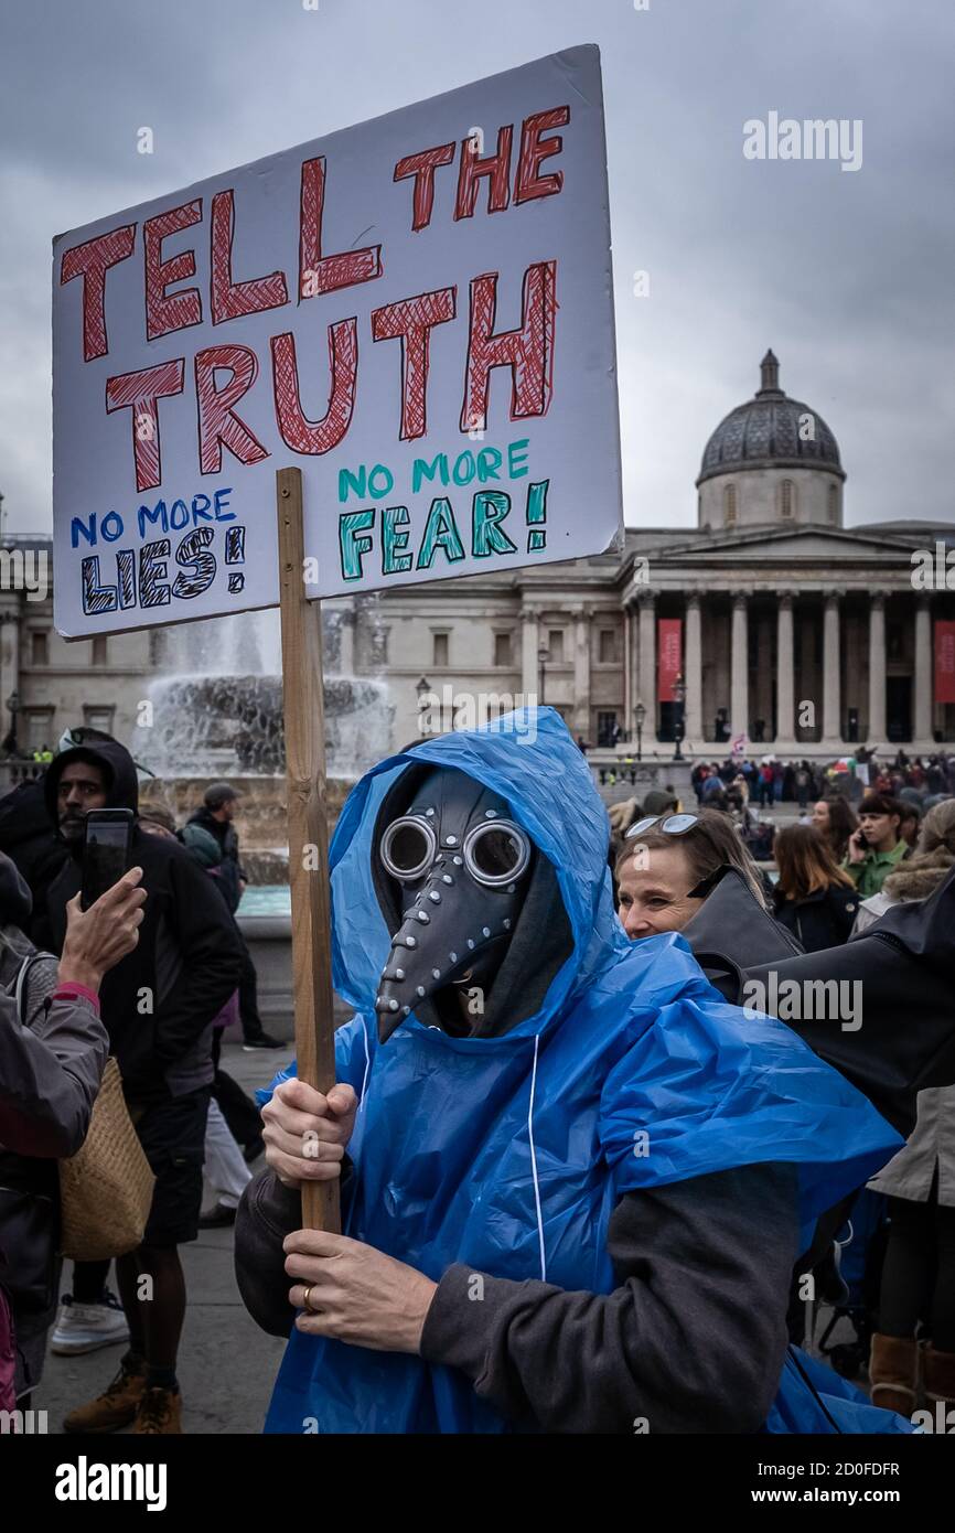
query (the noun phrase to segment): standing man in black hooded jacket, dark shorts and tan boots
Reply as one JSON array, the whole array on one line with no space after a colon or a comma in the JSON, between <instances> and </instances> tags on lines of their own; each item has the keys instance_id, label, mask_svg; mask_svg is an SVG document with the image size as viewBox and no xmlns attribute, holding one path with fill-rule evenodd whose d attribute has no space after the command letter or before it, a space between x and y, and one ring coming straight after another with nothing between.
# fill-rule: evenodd
<instances>
[{"instance_id":1,"label":"standing man in black hooded jacket, dark shorts and tan boots","mask_svg":"<svg viewBox=\"0 0 955 1533\"><path fill-rule=\"evenodd\" d=\"M81 886L90 809L138 811L136 768L118 740L63 751L44 777L46 809L66 862L46 891L57 947L66 904ZM66 1418L67 1432L181 1432L176 1352L185 1315L178 1246L195 1240L202 1199L205 1118L213 1078L212 1021L236 989L241 949L219 894L184 846L133 828L132 862L147 892L139 943L104 980L103 1023L136 1133L156 1176L143 1245L117 1260L130 1351L109 1390ZM143 1275L152 1295L141 1302Z\"/></svg>"}]
</instances>

